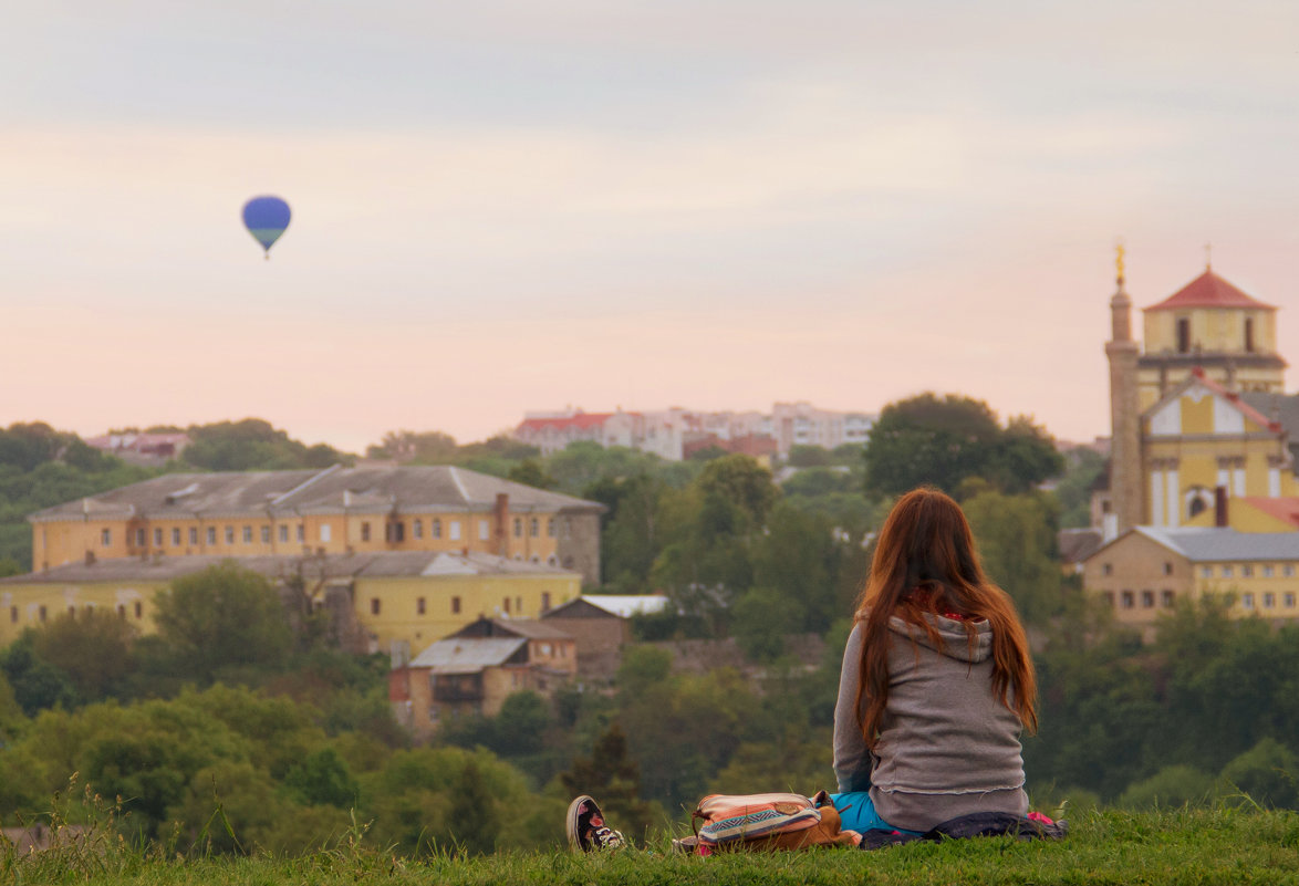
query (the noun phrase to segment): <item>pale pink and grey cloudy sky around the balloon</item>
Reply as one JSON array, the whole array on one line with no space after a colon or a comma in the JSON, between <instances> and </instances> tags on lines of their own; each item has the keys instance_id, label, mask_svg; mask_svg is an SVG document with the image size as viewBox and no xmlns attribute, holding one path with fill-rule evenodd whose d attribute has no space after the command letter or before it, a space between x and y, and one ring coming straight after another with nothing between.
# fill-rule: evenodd
<instances>
[{"instance_id":1,"label":"pale pink and grey cloudy sky around the balloon","mask_svg":"<svg viewBox=\"0 0 1299 886\"><path fill-rule=\"evenodd\" d=\"M1138 307L1211 243L1299 361L1293 0L5 19L0 425L256 416L362 451L933 390L1089 440L1118 238ZM261 194L294 212L269 261Z\"/></svg>"}]
</instances>

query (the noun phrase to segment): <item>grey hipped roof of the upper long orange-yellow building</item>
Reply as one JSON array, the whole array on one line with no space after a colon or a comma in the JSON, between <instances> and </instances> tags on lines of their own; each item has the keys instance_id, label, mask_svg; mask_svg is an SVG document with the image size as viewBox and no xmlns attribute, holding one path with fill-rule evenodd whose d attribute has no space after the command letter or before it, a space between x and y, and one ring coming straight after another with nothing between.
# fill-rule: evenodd
<instances>
[{"instance_id":1,"label":"grey hipped roof of the upper long orange-yellow building","mask_svg":"<svg viewBox=\"0 0 1299 886\"><path fill-rule=\"evenodd\" d=\"M453 465L164 474L65 501L32 522L103 518L266 517L304 513L488 512L509 496L512 513L603 513L599 501L539 490Z\"/></svg>"}]
</instances>

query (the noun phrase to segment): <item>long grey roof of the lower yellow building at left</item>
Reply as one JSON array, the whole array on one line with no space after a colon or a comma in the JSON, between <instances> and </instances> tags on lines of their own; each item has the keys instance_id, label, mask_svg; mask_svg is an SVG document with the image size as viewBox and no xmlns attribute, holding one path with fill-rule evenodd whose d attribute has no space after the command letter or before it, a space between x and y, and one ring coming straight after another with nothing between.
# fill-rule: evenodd
<instances>
[{"instance_id":1,"label":"long grey roof of the lower yellow building at left","mask_svg":"<svg viewBox=\"0 0 1299 886\"><path fill-rule=\"evenodd\" d=\"M113 557L64 564L26 576L0 578L0 585L71 585L84 582L170 582L233 560L244 569L268 578L301 574L321 578L436 578L440 576L535 576L575 578L578 573L538 563L508 560L491 553L448 553L446 551L370 551L364 553L264 555L256 557L161 556L151 559Z\"/></svg>"}]
</instances>

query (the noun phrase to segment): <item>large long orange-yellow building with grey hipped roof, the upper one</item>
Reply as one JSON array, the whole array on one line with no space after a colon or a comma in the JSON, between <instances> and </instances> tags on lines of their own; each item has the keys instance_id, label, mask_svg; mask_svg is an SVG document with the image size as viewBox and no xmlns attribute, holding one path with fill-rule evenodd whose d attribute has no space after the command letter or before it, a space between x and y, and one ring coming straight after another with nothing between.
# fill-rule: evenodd
<instances>
[{"instance_id":1,"label":"large long orange-yellow building with grey hipped roof, the upper one","mask_svg":"<svg viewBox=\"0 0 1299 886\"><path fill-rule=\"evenodd\" d=\"M29 517L38 572L121 557L490 553L600 581L604 505L462 468L166 474Z\"/></svg>"}]
</instances>

